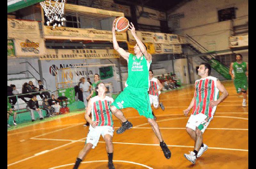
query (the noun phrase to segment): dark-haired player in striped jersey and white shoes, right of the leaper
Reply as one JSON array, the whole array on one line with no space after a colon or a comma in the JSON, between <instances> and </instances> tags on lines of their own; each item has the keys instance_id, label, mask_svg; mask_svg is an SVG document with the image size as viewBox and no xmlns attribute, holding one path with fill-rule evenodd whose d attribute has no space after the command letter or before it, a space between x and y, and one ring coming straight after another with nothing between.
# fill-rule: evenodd
<instances>
[{"instance_id":1,"label":"dark-haired player in striped jersey and white shoes, right of the leaper","mask_svg":"<svg viewBox=\"0 0 256 169\"><path fill-rule=\"evenodd\" d=\"M220 83L216 77L209 76L211 67L208 63L201 63L198 68L198 75L201 79L195 82L195 93L190 105L184 110L185 116L193 107L191 116L188 119L186 130L190 137L195 140L194 151L189 151L189 154L184 154L193 164L196 163L196 158L200 157L208 146L203 143L204 130L213 119L216 106L228 96L228 91ZM222 95L219 98L219 91Z\"/></svg>"}]
</instances>

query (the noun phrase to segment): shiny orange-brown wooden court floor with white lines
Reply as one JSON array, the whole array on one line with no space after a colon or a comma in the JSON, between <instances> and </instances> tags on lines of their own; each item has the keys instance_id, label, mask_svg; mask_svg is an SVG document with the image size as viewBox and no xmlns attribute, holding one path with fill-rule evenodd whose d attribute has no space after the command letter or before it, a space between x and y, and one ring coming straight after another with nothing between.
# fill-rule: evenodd
<instances>
[{"instance_id":1,"label":"shiny orange-brown wooden court floor with white lines","mask_svg":"<svg viewBox=\"0 0 256 169\"><path fill-rule=\"evenodd\" d=\"M113 137L116 169L233 169L248 168L248 98L247 107L236 94L232 81L222 81L229 96L219 104L213 120L203 135L208 150L192 165L183 154L193 151L194 141L185 130L188 117L183 115L193 97L194 86L162 93L165 110L154 110L164 141L172 157L166 159L147 120L132 108L124 115L133 128ZM191 111L190 111L191 113ZM116 128L121 126L113 117ZM10 169L73 168L76 156L84 146L88 127L84 114L8 131L7 164ZM107 153L102 138L83 160L80 168L107 169Z\"/></svg>"}]
</instances>

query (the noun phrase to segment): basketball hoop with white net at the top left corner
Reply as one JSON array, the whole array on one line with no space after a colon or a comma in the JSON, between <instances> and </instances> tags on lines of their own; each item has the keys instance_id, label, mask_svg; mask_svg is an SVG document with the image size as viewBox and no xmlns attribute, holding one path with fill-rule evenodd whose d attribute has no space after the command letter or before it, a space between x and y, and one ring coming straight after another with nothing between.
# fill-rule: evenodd
<instances>
[{"instance_id":1,"label":"basketball hoop with white net at the top left corner","mask_svg":"<svg viewBox=\"0 0 256 169\"><path fill-rule=\"evenodd\" d=\"M66 0L46 0L40 2L40 5L44 9L45 16L48 18L46 22L48 26L51 23L53 24L53 28L55 28L57 24L58 26L63 26L63 21L66 20L63 17L65 1Z\"/></svg>"}]
</instances>

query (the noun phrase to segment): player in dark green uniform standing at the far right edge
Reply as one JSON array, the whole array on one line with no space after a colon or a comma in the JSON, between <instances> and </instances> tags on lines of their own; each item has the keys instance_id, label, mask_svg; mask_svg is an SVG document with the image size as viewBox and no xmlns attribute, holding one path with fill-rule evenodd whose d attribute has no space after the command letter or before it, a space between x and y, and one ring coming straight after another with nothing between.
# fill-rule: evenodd
<instances>
[{"instance_id":1,"label":"player in dark green uniform standing at the far right edge","mask_svg":"<svg viewBox=\"0 0 256 169\"><path fill-rule=\"evenodd\" d=\"M246 91L248 87L248 63L242 61L242 55L236 54L236 62L232 62L229 68L229 74L234 79L234 85L237 93L243 93L242 106L246 107ZM234 71L234 75L232 73Z\"/></svg>"}]
</instances>

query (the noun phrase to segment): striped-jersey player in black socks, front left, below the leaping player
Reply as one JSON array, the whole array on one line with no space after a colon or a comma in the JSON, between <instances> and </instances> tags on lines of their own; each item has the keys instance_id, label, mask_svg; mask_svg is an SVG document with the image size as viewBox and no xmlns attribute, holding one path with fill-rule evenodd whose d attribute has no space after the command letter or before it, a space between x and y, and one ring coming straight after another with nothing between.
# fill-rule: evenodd
<instances>
[{"instance_id":1,"label":"striped-jersey player in black socks, front left, below the leaping player","mask_svg":"<svg viewBox=\"0 0 256 169\"><path fill-rule=\"evenodd\" d=\"M100 135L106 142L106 150L108 153L108 168L115 169L113 164L113 143L112 137L114 133L112 112L110 105L114 99L106 96L104 83L99 83L96 87L98 95L89 100L85 112L85 120L90 123L89 131L85 141L84 148L79 152L73 169L77 169L86 154L97 146ZM92 113L92 119L89 115Z\"/></svg>"}]
</instances>

